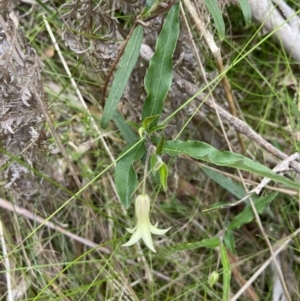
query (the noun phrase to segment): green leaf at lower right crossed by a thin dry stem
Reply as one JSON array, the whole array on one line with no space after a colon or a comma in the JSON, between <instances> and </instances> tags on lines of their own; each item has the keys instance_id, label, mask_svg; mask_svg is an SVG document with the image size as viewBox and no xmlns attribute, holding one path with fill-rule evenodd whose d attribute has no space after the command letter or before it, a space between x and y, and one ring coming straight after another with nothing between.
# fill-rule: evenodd
<instances>
[{"instance_id":1,"label":"green leaf at lower right crossed by a thin dry stem","mask_svg":"<svg viewBox=\"0 0 300 301\"><path fill-rule=\"evenodd\" d=\"M254 202L254 206L258 213L262 213L268 204L270 204L278 195L278 192L274 192L265 197L259 198ZM254 213L250 205L247 205L245 209L239 213L233 221L228 225L228 230L235 230L242 225L250 223L254 219Z\"/></svg>"}]
</instances>

